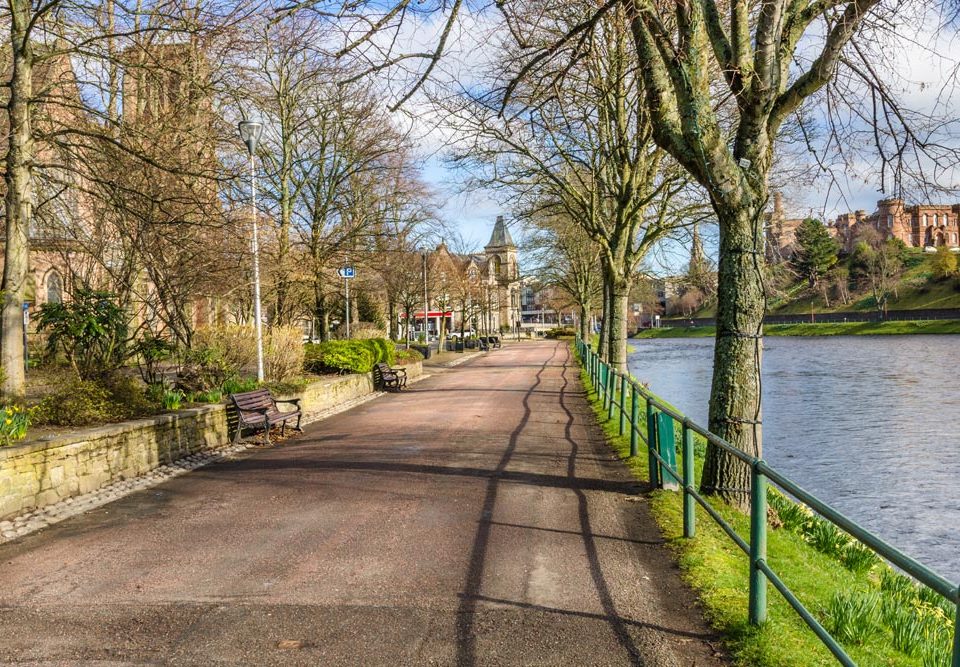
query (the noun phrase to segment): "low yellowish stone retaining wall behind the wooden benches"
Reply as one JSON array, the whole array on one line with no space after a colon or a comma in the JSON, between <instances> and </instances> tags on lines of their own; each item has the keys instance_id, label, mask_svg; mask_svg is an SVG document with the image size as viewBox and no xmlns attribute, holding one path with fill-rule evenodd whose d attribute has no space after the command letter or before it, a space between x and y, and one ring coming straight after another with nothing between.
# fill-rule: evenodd
<instances>
[{"instance_id":1,"label":"low yellowish stone retaining wall behind the wooden benches","mask_svg":"<svg viewBox=\"0 0 960 667\"><path fill-rule=\"evenodd\" d=\"M422 374L419 363L407 368L410 378ZM314 382L298 394L304 423L373 392L370 374ZM138 477L197 452L223 447L232 435L228 411L220 404L2 447L0 520Z\"/></svg>"}]
</instances>

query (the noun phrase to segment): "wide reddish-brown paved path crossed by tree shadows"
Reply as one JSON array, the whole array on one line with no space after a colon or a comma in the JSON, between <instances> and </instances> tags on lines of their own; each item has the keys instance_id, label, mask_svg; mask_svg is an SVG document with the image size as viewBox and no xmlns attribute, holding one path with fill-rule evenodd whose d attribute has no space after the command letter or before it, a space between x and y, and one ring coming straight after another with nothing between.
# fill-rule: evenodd
<instances>
[{"instance_id":1,"label":"wide reddish-brown paved path crossed by tree shadows","mask_svg":"<svg viewBox=\"0 0 960 667\"><path fill-rule=\"evenodd\" d=\"M713 665L567 346L0 546L0 662Z\"/></svg>"}]
</instances>

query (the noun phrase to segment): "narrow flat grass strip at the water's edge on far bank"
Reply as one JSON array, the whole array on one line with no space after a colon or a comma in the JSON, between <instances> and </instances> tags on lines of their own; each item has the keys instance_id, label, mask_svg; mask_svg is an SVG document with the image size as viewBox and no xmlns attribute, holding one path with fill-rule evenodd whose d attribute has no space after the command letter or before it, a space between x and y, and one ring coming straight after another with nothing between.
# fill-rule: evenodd
<instances>
[{"instance_id":1,"label":"narrow flat grass strip at the water's edge on far bank","mask_svg":"<svg viewBox=\"0 0 960 667\"><path fill-rule=\"evenodd\" d=\"M706 338L717 328L662 327L644 329L634 338ZM960 320L911 320L903 322L827 322L823 324L768 324L765 336L902 336L910 334L960 334Z\"/></svg>"}]
</instances>

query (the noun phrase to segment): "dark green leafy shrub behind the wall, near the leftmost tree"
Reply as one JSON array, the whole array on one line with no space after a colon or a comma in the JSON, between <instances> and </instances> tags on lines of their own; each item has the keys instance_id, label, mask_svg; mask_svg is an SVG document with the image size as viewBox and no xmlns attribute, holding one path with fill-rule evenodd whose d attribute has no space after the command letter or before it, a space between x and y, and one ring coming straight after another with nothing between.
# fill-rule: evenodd
<instances>
[{"instance_id":1,"label":"dark green leafy shrub behind the wall, near the leftmost tree","mask_svg":"<svg viewBox=\"0 0 960 667\"><path fill-rule=\"evenodd\" d=\"M88 380L120 367L126 358L127 316L110 292L79 289L65 303L40 306L39 331L47 353L62 350L78 377Z\"/></svg>"}]
</instances>

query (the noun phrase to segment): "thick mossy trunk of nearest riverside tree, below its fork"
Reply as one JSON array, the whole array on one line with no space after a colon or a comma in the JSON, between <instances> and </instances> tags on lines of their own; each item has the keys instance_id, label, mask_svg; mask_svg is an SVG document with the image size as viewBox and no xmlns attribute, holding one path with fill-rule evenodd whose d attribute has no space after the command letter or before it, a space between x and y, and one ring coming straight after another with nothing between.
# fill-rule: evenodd
<instances>
[{"instance_id":1,"label":"thick mossy trunk of nearest riverside tree, below its fork","mask_svg":"<svg viewBox=\"0 0 960 667\"><path fill-rule=\"evenodd\" d=\"M763 452L760 423L764 309L762 256L759 254L763 248L762 225L759 224L761 211L740 206L717 212L720 218L720 265L710 430L734 447L759 457ZM708 445L701 490L747 509L750 505L750 468L719 447Z\"/></svg>"}]
</instances>

